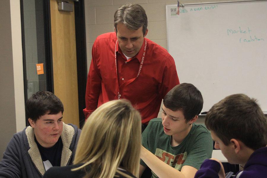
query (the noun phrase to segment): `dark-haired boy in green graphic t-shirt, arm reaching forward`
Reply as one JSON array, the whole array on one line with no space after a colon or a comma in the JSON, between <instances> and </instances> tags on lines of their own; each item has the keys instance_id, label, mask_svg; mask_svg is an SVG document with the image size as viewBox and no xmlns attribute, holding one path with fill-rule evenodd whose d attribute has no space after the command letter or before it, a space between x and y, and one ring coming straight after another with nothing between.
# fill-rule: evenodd
<instances>
[{"instance_id":1,"label":"dark-haired boy in green graphic t-shirt, arm reaching forward","mask_svg":"<svg viewBox=\"0 0 267 178\"><path fill-rule=\"evenodd\" d=\"M163 99L162 118L152 119L142 134L139 177L148 166L152 177L194 177L212 156L213 141L204 125L195 124L203 107L201 92L182 83Z\"/></svg>"}]
</instances>

